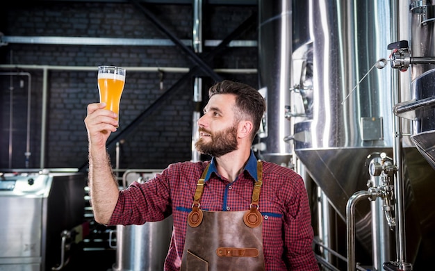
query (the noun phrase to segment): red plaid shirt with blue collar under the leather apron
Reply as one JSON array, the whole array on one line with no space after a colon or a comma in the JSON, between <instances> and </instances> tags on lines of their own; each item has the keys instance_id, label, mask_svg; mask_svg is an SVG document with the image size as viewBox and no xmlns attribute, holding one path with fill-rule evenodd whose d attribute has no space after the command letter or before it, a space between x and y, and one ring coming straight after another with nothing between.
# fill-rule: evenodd
<instances>
[{"instance_id":1,"label":"red plaid shirt with blue collar under the leather apron","mask_svg":"<svg viewBox=\"0 0 435 271\"><path fill-rule=\"evenodd\" d=\"M187 216L206 165L201 208L206 211L244 211L251 204L256 181L256 158L230 183L217 174L215 160L175 163L146 183L134 182L120 191L110 224L144 224L172 214L174 230L165 270L179 270ZM266 270L319 270L312 249L313 229L302 177L287 167L263 161L263 186L258 211L263 215L263 252Z\"/></svg>"}]
</instances>

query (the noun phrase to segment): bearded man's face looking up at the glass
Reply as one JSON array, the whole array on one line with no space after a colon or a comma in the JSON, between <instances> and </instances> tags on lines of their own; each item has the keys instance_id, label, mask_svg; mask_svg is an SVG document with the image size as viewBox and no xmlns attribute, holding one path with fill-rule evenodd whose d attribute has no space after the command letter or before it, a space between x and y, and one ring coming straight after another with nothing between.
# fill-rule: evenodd
<instances>
[{"instance_id":1,"label":"bearded man's face looking up at the glass","mask_svg":"<svg viewBox=\"0 0 435 271\"><path fill-rule=\"evenodd\" d=\"M238 147L237 128L233 107L234 95L213 95L198 120L199 140L197 151L211 156L222 156Z\"/></svg>"}]
</instances>

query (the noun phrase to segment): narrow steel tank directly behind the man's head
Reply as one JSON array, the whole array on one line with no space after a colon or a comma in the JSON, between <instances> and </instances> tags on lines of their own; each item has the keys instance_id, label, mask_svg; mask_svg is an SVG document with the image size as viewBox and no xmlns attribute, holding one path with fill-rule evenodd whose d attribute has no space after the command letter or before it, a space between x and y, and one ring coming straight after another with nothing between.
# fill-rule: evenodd
<instances>
[{"instance_id":1,"label":"narrow steel tank directly behind the man's head","mask_svg":"<svg viewBox=\"0 0 435 271\"><path fill-rule=\"evenodd\" d=\"M264 144L258 149L263 160L278 164L288 164L291 152L284 142L290 129L284 112L290 97L292 18L292 1L258 1L258 81L267 102L258 133Z\"/></svg>"}]
</instances>

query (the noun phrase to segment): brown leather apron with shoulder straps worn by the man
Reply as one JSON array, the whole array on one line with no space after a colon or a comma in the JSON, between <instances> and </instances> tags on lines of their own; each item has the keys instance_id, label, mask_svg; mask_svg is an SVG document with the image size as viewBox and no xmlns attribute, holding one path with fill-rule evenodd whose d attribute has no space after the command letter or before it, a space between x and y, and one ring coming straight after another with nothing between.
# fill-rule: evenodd
<instances>
[{"instance_id":1,"label":"brown leather apron with shoulder straps worn by the man","mask_svg":"<svg viewBox=\"0 0 435 271\"><path fill-rule=\"evenodd\" d=\"M265 270L263 256L263 217L258 212L263 164L257 162L258 181L249 210L211 212L199 209L208 166L198 180L188 215L182 271Z\"/></svg>"}]
</instances>

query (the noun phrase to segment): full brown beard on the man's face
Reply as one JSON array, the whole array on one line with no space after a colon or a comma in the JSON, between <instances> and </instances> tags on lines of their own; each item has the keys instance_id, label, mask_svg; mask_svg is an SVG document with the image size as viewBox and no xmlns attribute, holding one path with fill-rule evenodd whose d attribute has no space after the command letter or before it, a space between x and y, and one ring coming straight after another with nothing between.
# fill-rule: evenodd
<instances>
[{"instance_id":1,"label":"full brown beard on the man's face","mask_svg":"<svg viewBox=\"0 0 435 271\"><path fill-rule=\"evenodd\" d=\"M199 131L204 131L211 135L210 142L204 142L204 138L199 138L195 143L197 151L201 154L220 157L237 149L237 126L232 126L216 133L211 133L202 128L199 128Z\"/></svg>"}]
</instances>

